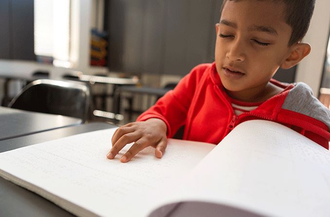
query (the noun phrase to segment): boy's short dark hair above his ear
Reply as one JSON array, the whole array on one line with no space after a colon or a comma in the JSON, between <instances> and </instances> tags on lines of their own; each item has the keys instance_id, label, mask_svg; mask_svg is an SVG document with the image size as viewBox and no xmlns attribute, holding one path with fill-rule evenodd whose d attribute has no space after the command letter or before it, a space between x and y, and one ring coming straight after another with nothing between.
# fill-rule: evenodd
<instances>
[{"instance_id":1,"label":"boy's short dark hair above his ear","mask_svg":"<svg viewBox=\"0 0 330 217\"><path fill-rule=\"evenodd\" d=\"M221 12L226 1L223 0ZM238 0L234 0L238 1ZM262 0L259 0L262 1ZM285 5L284 20L291 26L292 34L288 46L291 46L303 39L310 26L314 11L315 0L272 0Z\"/></svg>"}]
</instances>

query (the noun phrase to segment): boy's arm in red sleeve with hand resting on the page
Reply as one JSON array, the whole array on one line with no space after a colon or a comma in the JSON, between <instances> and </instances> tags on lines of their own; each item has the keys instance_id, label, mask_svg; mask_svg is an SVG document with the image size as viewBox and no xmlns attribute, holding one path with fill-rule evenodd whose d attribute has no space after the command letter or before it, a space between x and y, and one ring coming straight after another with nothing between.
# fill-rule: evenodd
<instances>
[{"instance_id":1,"label":"boy's arm in red sleeve with hand resting on the page","mask_svg":"<svg viewBox=\"0 0 330 217\"><path fill-rule=\"evenodd\" d=\"M147 146L155 147L155 156L161 158L167 138L185 124L197 83L208 66L209 64L203 64L195 67L174 90L167 92L154 106L141 114L137 122L119 127L112 137L113 146L107 158L113 159L125 145L133 142L120 159L121 162L128 162Z\"/></svg>"}]
</instances>

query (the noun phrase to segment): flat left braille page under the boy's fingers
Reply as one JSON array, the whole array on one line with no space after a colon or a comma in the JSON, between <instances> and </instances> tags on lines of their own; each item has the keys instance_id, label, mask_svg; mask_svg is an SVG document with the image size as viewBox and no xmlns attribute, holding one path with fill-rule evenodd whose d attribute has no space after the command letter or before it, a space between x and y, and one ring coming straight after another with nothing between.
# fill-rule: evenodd
<instances>
[{"instance_id":1,"label":"flat left braille page under the boy's fingers","mask_svg":"<svg viewBox=\"0 0 330 217\"><path fill-rule=\"evenodd\" d=\"M186 174L215 145L168 140L162 159L148 147L128 163L106 158L116 128L0 153L0 176L78 216L146 216L147 196ZM159 197L153 198L155 200Z\"/></svg>"}]
</instances>

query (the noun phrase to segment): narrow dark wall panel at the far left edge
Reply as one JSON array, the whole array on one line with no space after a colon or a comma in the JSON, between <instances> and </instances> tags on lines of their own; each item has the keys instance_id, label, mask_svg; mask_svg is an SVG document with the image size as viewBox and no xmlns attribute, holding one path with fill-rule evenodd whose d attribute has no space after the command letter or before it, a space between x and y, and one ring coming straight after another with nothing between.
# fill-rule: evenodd
<instances>
[{"instance_id":1,"label":"narrow dark wall panel at the far left edge","mask_svg":"<svg viewBox=\"0 0 330 217\"><path fill-rule=\"evenodd\" d=\"M0 0L0 58L10 58L9 0Z\"/></svg>"}]
</instances>

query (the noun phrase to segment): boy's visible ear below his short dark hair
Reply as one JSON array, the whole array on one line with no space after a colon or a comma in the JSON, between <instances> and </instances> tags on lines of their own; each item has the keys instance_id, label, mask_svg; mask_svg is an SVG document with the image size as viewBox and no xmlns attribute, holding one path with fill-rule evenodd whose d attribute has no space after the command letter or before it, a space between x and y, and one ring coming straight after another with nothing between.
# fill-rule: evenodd
<instances>
[{"instance_id":1,"label":"boy's visible ear below his short dark hair","mask_svg":"<svg viewBox=\"0 0 330 217\"><path fill-rule=\"evenodd\" d=\"M289 57L280 65L282 69L290 69L297 65L305 56L310 54L311 45L307 43L297 43L292 45L290 52Z\"/></svg>"}]
</instances>

